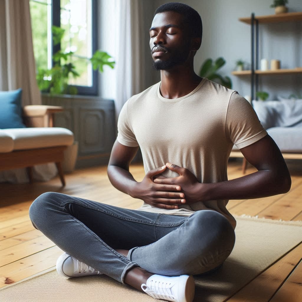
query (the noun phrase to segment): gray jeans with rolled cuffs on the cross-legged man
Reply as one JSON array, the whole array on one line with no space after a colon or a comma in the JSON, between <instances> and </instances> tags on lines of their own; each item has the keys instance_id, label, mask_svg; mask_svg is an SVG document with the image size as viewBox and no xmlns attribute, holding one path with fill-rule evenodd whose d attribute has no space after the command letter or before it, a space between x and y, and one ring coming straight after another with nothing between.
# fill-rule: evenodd
<instances>
[{"instance_id":1,"label":"gray jeans with rolled cuffs on the cross-legged man","mask_svg":"<svg viewBox=\"0 0 302 302\"><path fill-rule=\"evenodd\" d=\"M29 216L60 249L122 283L136 266L166 276L208 272L235 243L230 222L213 210L181 217L48 192L31 204Z\"/></svg>"}]
</instances>

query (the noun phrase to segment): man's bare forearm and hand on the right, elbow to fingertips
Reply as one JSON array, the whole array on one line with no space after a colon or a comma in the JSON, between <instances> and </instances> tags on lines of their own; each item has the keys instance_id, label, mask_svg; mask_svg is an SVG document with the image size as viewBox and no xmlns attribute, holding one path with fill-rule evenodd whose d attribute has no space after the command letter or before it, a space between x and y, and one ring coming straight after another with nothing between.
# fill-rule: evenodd
<instances>
[{"instance_id":1,"label":"man's bare forearm and hand on the right, elbow to fingertips","mask_svg":"<svg viewBox=\"0 0 302 302\"><path fill-rule=\"evenodd\" d=\"M177 172L178 177L154 179L162 185L178 184L185 194L185 203L221 199L250 199L282 194L291 188L291 177L284 164L273 169L259 171L229 181L200 183L188 169L166 163L168 169Z\"/></svg>"}]
</instances>

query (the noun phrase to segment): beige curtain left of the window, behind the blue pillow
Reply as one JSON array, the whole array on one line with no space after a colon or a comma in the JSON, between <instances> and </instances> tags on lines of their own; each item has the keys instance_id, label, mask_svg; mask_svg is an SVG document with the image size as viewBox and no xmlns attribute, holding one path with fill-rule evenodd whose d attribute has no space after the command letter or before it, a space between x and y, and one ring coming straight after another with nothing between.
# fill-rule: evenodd
<instances>
[{"instance_id":1,"label":"beige curtain left of the window, behind the blue pillow","mask_svg":"<svg viewBox=\"0 0 302 302\"><path fill-rule=\"evenodd\" d=\"M0 0L0 90L22 88L22 105L41 104L29 0Z\"/></svg>"}]
</instances>

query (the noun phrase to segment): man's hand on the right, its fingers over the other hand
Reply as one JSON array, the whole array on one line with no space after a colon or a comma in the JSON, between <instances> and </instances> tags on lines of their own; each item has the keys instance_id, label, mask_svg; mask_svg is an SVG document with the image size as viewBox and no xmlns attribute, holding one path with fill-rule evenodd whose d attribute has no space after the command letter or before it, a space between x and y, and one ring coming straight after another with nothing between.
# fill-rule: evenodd
<instances>
[{"instance_id":1,"label":"man's hand on the right, its fingers over the other hand","mask_svg":"<svg viewBox=\"0 0 302 302\"><path fill-rule=\"evenodd\" d=\"M162 185L179 185L185 194L185 204L202 201L202 192L200 191L202 184L198 182L196 176L190 170L169 162L166 163L166 166L171 171L178 173L179 176L174 178L155 178L153 182Z\"/></svg>"}]
</instances>

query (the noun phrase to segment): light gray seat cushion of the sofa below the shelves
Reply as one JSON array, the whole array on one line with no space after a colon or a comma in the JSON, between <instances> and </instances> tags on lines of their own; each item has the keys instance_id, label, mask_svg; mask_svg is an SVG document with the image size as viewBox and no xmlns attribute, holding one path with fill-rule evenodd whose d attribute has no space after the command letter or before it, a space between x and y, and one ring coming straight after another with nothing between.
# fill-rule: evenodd
<instances>
[{"instance_id":1,"label":"light gray seat cushion of the sofa below the shelves","mask_svg":"<svg viewBox=\"0 0 302 302\"><path fill-rule=\"evenodd\" d=\"M266 130L284 153L302 152L302 127L273 127Z\"/></svg>"}]
</instances>

